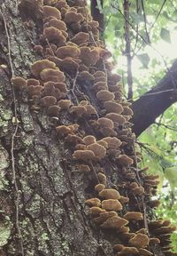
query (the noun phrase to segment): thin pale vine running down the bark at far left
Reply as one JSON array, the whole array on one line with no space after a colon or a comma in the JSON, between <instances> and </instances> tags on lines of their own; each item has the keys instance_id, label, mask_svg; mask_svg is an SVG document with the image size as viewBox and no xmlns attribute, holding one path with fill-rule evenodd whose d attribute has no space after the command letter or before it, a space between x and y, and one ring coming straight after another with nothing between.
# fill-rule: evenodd
<instances>
[{"instance_id":1,"label":"thin pale vine running down the bark at far left","mask_svg":"<svg viewBox=\"0 0 177 256\"><path fill-rule=\"evenodd\" d=\"M7 23L6 20L4 18L4 14L3 12L0 10L1 15L3 17L4 20L4 28L5 28L5 33L7 36L7 44L8 44L8 57L9 57L9 62L10 62L10 67L11 67L11 72L12 72L12 77L14 76L14 69L13 69L13 65L12 65L12 51L11 51L11 38L9 35L9 31L7 28ZM15 158L14 158L14 140L15 137L17 135L18 132L18 128L19 128L19 122L18 122L18 117L17 117L17 100L16 100L16 96L15 96L15 91L13 88L13 84L12 84L12 96L13 96L13 102L14 102L14 114L15 114L15 131L12 134L12 147L11 147L11 156L12 156L12 180L13 180L13 184L15 187L15 191L16 191L16 202L15 202L15 208L16 208L16 228L17 228L17 232L19 234L19 243L20 243L20 248L21 248L21 255L25 256L25 252L24 252L24 245L23 245L23 237L21 234L21 229L19 227L19 202L20 202L20 190L17 184L17 176L16 176L16 169L15 169Z\"/></svg>"}]
</instances>

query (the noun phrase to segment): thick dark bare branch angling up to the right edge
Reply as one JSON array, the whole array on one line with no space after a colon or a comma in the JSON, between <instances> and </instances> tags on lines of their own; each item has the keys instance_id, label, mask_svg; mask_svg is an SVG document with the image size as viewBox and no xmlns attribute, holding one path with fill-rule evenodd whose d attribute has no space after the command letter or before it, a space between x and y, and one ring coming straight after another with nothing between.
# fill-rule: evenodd
<instances>
[{"instance_id":1,"label":"thick dark bare branch angling up to the right edge","mask_svg":"<svg viewBox=\"0 0 177 256\"><path fill-rule=\"evenodd\" d=\"M135 124L133 131L137 137L177 100L176 84L177 60L174 61L172 68L169 69L157 86L143 94L132 104L135 114L131 122Z\"/></svg>"}]
</instances>

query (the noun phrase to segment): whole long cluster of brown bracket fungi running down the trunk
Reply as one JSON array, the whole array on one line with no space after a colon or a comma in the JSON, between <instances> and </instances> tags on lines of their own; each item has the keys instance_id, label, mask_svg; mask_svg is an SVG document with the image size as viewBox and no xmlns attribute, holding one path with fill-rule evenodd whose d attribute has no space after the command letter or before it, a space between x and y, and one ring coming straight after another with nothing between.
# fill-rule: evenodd
<instances>
[{"instance_id":1,"label":"whole long cluster of brown bracket fungi running down the trunk","mask_svg":"<svg viewBox=\"0 0 177 256\"><path fill-rule=\"evenodd\" d=\"M43 1L43 31L35 45L43 60L35 61L27 80L13 77L13 87L27 89L31 110L44 109L57 119L59 140L73 150L68 161L78 164L82 173L95 173L94 197L85 203L92 222L103 232L113 230L119 238L119 244L112 244L115 255L152 255L153 244L161 246L165 255L173 255L168 245L174 227L167 221L146 219L144 204L158 205L150 201L158 176L136 166L141 155L135 152L129 122L131 104L122 99L121 76L112 73L108 60L112 54L99 39L99 24L86 5L83 0ZM64 114L71 117L69 122L64 123ZM96 163L94 173L92 163ZM116 188L106 178L106 166L112 169L112 164L120 180Z\"/></svg>"}]
</instances>

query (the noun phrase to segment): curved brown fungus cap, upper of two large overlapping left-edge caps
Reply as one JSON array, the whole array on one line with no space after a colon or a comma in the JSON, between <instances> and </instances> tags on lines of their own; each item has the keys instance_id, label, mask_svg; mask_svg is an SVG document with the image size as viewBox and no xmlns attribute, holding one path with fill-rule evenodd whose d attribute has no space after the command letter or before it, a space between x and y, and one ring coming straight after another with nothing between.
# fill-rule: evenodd
<instances>
[{"instance_id":1,"label":"curved brown fungus cap, upper of two large overlapping left-edge caps","mask_svg":"<svg viewBox=\"0 0 177 256\"><path fill-rule=\"evenodd\" d=\"M56 68L56 64L50 60L37 60L31 66L31 72L35 77L39 77L40 73L45 68Z\"/></svg>"}]
</instances>

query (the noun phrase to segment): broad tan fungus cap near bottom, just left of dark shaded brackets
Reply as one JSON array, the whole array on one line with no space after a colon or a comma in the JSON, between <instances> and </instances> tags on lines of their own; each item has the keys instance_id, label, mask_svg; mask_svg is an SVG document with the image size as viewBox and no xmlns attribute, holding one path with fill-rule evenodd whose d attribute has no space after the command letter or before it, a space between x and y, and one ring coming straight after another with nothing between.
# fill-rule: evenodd
<instances>
[{"instance_id":1,"label":"broad tan fungus cap near bottom, just left of dark shaded brackets","mask_svg":"<svg viewBox=\"0 0 177 256\"><path fill-rule=\"evenodd\" d=\"M146 247L150 243L150 238L144 234L135 234L134 237L130 238L128 244L137 248Z\"/></svg>"}]
</instances>

